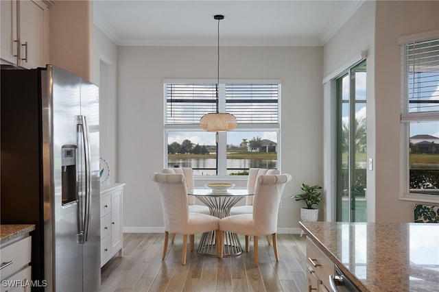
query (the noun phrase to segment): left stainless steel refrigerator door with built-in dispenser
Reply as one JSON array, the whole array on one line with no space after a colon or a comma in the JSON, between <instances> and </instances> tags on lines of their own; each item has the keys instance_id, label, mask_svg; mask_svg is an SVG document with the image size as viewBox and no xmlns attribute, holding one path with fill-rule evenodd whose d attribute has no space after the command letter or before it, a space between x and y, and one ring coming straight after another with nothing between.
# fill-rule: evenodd
<instances>
[{"instance_id":1,"label":"left stainless steel refrigerator door with built-in dispenser","mask_svg":"<svg viewBox=\"0 0 439 292\"><path fill-rule=\"evenodd\" d=\"M81 113L80 77L54 66L48 66L47 88L49 88L46 98L50 125L43 130L48 132L43 132L43 136L49 136L45 139L47 143L53 141L51 153L45 153L52 165L50 180L53 188L49 195L45 193L45 200L47 204L53 205L51 208L54 210L54 216L51 223L54 238L47 239L45 244L54 245L50 249L53 263L51 273L54 281L51 291L82 291L82 244L78 243L78 234L82 228L78 221L82 211L80 208L82 186L78 182L84 171L80 163L83 154L81 145L78 145L77 133L77 117ZM50 148L51 145L47 147ZM66 152L70 151L74 156L74 173L66 162ZM66 181L67 171L73 175L73 179ZM73 192L74 198L70 195L69 202L66 202L65 192L72 189L73 191L70 192Z\"/></svg>"}]
</instances>

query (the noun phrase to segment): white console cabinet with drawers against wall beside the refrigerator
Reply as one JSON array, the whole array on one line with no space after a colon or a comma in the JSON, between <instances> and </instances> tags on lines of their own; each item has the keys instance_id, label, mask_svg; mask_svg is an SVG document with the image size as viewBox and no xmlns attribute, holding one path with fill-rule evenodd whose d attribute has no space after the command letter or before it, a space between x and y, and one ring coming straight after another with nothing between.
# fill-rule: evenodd
<instances>
[{"instance_id":1,"label":"white console cabinet with drawers against wall beside the refrigerator","mask_svg":"<svg viewBox=\"0 0 439 292\"><path fill-rule=\"evenodd\" d=\"M115 254L123 256L123 186L101 184L101 267Z\"/></svg>"}]
</instances>

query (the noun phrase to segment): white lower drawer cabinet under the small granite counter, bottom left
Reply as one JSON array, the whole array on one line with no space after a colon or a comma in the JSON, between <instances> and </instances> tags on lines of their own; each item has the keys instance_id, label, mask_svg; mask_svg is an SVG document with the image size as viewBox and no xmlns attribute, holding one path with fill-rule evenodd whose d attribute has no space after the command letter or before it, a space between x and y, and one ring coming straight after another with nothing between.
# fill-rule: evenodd
<instances>
[{"instance_id":1,"label":"white lower drawer cabinet under the small granite counter, bottom left","mask_svg":"<svg viewBox=\"0 0 439 292\"><path fill-rule=\"evenodd\" d=\"M1 247L1 292L31 291L32 268L29 265L31 250L31 236Z\"/></svg>"}]
</instances>

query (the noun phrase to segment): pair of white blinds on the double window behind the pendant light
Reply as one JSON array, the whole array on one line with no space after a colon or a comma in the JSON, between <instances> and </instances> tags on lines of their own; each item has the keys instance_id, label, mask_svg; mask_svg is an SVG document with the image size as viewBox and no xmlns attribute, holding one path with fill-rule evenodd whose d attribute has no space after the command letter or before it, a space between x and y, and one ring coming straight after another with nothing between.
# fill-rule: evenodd
<instances>
[{"instance_id":1,"label":"pair of white blinds on the double window behind the pendant light","mask_svg":"<svg viewBox=\"0 0 439 292\"><path fill-rule=\"evenodd\" d=\"M280 84L219 84L218 102L238 124L277 124L279 90ZM198 124L217 109L216 84L165 84L165 95L167 125Z\"/></svg>"}]
</instances>

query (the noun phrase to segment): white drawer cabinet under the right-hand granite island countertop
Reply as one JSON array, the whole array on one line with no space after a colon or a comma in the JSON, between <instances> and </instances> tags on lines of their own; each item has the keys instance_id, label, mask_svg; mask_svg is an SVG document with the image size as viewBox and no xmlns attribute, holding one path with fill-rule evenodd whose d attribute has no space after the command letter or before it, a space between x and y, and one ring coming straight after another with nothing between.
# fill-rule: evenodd
<instances>
[{"instance_id":1,"label":"white drawer cabinet under the right-hand granite island countertop","mask_svg":"<svg viewBox=\"0 0 439 292\"><path fill-rule=\"evenodd\" d=\"M307 282L308 291L329 291L329 276L334 275L333 262L307 238Z\"/></svg>"}]
</instances>

